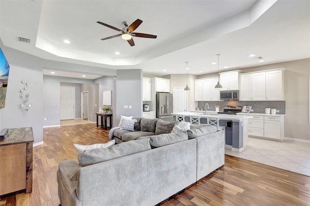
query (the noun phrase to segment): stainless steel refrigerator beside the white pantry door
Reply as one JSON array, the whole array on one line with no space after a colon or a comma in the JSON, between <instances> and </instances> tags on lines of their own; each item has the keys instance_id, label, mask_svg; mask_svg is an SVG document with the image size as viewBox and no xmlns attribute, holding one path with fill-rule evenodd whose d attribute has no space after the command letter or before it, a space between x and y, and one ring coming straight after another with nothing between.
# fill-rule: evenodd
<instances>
[{"instance_id":1,"label":"stainless steel refrigerator beside the white pantry door","mask_svg":"<svg viewBox=\"0 0 310 206\"><path fill-rule=\"evenodd\" d=\"M171 93L156 93L156 118L173 121L173 95Z\"/></svg>"}]
</instances>

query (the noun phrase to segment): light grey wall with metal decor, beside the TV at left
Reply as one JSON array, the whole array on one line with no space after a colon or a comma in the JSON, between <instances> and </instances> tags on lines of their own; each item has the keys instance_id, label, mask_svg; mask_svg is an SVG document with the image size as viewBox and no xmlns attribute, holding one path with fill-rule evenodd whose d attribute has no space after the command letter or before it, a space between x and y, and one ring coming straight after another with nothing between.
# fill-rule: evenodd
<instances>
[{"instance_id":1,"label":"light grey wall with metal decor, beside the TV at left","mask_svg":"<svg viewBox=\"0 0 310 206\"><path fill-rule=\"evenodd\" d=\"M10 65L10 74L5 107L1 109L1 129L32 127L34 143L43 141L43 73L42 61L34 56L3 46L2 51ZM28 92L31 108L28 112L19 110L20 80L30 82Z\"/></svg>"}]
</instances>

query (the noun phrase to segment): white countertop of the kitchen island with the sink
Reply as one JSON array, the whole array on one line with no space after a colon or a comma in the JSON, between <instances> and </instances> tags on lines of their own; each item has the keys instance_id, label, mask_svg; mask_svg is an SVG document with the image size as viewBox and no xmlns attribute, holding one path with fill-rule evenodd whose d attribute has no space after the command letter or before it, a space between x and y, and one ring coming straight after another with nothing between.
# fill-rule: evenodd
<instances>
[{"instance_id":1,"label":"white countertop of the kitchen island with the sink","mask_svg":"<svg viewBox=\"0 0 310 206\"><path fill-rule=\"evenodd\" d=\"M248 118L252 118L251 116L242 116L242 115L225 115L225 114L207 114L205 115L202 111L202 113L198 113L197 112L178 112L178 113L171 113L171 115L184 115L184 116L199 116L201 118L219 118L219 119L222 119L222 120L232 120L232 121L243 121L243 120L246 120Z\"/></svg>"}]
</instances>

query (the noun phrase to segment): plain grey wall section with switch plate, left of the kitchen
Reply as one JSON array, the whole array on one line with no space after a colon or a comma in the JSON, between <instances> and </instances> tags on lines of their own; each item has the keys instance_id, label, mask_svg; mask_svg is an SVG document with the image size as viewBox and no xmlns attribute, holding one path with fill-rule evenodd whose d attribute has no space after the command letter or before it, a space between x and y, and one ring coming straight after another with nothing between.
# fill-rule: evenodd
<instances>
[{"instance_id":1,"label":"plain grey wall section with switch plate, left of the kitchen","mask_svg":"<svg viewBox=\"0 0 310 206\"><path fill-rule=\"evenodd\" d=\"M121 115L142 117L142 70L117 70L116 76L114 121L119 122ZM132 109L124 109L124 105L132 105Z\"/></svg>"}]
</instances>

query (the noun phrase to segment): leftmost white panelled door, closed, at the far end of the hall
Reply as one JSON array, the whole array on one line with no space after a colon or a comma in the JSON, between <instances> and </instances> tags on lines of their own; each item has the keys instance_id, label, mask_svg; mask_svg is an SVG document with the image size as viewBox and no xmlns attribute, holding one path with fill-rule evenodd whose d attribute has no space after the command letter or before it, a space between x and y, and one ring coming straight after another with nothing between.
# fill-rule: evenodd
<instances>
[{"instance_id":1,"label":"leftmost white panelled door, closed, at the far end of the hall","mask_svg":"<svg viewBox=\"0 0 310 206\"><path fill-rule=\"evenodd\" d=\"M60 119L74 119L75 88L60 87Z\"/></svg>"}]
</instances>

